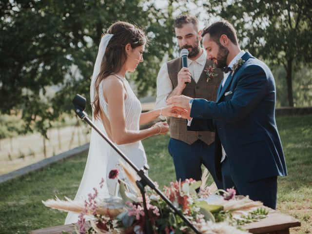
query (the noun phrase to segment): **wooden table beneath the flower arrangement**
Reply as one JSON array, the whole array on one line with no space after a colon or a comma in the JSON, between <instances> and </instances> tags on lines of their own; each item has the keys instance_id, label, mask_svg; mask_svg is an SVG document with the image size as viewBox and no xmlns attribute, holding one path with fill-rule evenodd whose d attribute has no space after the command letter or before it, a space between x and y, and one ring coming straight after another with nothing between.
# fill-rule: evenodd
<instances>
[{"instance_id":1,"label":"wooden table beneath the flower arrangement","mask_svg":"<svg viewBox=\"0 0 312 234\"><path fill-rule=\"evenodd\" d=\"M298 227L300 225L301 223L299 220L292 216L284 215L270 209L269 215L266 218L257 222L249 223L243 226L243 228L253 234L289 234L289 228ZM75 234L75 225L67 224L43 228L31 231L30 234L62 234L62 231Z\"/></svg>"}]
</instances>

